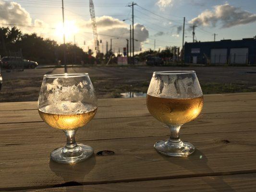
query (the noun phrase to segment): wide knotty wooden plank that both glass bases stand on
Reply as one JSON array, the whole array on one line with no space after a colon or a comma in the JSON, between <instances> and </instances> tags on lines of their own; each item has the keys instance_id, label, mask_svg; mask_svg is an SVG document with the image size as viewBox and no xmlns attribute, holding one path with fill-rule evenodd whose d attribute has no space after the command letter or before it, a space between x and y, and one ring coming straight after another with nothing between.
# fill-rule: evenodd
<instances>
[{"instance_id":1,"label":"wide knotty wooden plank that both glass bases stand on","mask_svg":"<svg viewBox=\"0 0 256 192\"><path fill-rule=\"evenodd\" d=\"M111 150L115 155L93 156L71 166L49 161L50 151L61 144L1 144L0 190L48 188L71 181L104 184L256 172L256 131L183 135L197 148L187 158L158 154L153 144L161 139L88 141L95 152Z\"/></svg>"}]
</instances>

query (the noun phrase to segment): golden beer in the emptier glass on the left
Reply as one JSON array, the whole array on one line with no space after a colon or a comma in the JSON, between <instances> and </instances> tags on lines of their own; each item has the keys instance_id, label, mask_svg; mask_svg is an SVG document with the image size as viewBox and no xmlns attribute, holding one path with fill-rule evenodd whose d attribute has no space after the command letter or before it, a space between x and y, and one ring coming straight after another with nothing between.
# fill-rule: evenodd
<instances>
[{"instance_id":1,"label":"golden beer in the emptier glass on the left","mask_svg":"<svg viewBox=\"0 0 256 192\"><path fill-rule=\"evenodd\" d=\"M52 114L43 112L38 109L38 113L42 120L44 120L49 126L63 129L73 130L86 125L95 116L97 108L92 111L81 113L81 114Z\"/></svg>"}]
</instances>

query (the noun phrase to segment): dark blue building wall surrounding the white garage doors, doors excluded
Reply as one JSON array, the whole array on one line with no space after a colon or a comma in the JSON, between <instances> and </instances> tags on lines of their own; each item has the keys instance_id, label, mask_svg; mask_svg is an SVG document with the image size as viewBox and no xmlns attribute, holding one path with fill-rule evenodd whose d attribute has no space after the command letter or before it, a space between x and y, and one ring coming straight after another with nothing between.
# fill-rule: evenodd
<instances>
[{"instance_id":1,"label":"dark blue building wall surrounding the white garage doors, doors excluded","mask_svg":"<svg viewBox=\"0 0 256 192\"><path fill-rule=\"evenodd\" d=\"M215 42L185 43L184 60L186 63L192 63L193 57L196 56L197 63L206 64L210 61L213 61L213 59L211 58L211 49L225 49L225 48L227 49L227 56L226 56L227 63L230 63L231 61L231 58L230 58L231 48L248 48L247 63L256 64L256 39L254 38L243 39L243 40L221 40L221 41L215 41ZM224 56L221 56L221 57L224 57ZM224 60L223 58L221 59Z\"/></svg>"}]
</instances>

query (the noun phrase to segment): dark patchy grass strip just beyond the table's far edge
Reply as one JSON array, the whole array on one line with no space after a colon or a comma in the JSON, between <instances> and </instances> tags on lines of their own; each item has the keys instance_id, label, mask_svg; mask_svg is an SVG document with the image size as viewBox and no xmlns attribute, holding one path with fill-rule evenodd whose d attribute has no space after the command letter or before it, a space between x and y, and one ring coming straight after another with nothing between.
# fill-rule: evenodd
<instances>
[{"instance_id":1,"label":"dark patchy grass strip just beyond the table's far edge","mask_svg":"<svg viewBox=\"0 0 256 192\"><path fill-rule=\"evenodd\" d=\"M147 92L149 81L119 78L91 78L98 98L121 97L124 92ZM0 91L0 102L37 101L42 78L6 80ZM200 82L204 94L256 92L256 85L243 83Z\"/></svg>"}]
</instances>

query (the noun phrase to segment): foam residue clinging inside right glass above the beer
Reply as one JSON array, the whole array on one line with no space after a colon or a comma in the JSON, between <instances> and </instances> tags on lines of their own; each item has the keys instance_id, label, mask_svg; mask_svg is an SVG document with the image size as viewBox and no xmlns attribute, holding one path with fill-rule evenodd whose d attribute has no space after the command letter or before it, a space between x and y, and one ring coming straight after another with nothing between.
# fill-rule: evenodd
<instances>
[{"instance_id":1,"label":"foam residue clinging inside right glass above the beer","mask_svg":"<svg viewBox=\"0 0 256 192\"><path fill-rule=\"evenodd\" d=\"M203 93L196 76L154 74L147 95L161 98L188 99L203 96Z\"/></svg>"}]
</instances>

